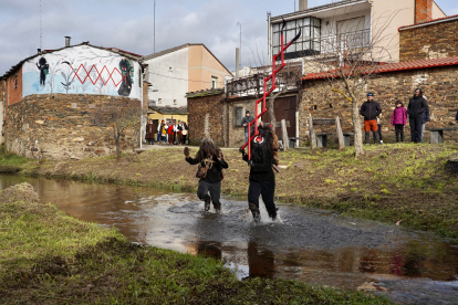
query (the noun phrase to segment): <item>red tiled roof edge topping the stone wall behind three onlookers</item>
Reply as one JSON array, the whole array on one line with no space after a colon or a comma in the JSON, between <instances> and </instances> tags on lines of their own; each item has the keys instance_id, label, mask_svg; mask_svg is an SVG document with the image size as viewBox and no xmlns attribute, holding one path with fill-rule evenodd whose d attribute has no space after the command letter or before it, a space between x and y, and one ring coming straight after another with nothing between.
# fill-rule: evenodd
<instances>
[{"instance_id":1,"label":"red tiled roof edge topping the stone wall behind three onlookers","mask_svg":"<svg viewBox=\"0 0 458 305\"><path fill-rule=\"evenodd\" d=\"M372 73L386 73L386 72L406 71L406 70L436 67L436 66L446 66L446 65L458 65L458 56L382 64L379 66L374 66L374 71ZM304 75L301 80L302 81L320 80L320 78L326 78L329 76L330 76L330 73L310 73L310 74ZM333 75L333 76L336 77L336 75Z\"/></svg>"}]
</instances>

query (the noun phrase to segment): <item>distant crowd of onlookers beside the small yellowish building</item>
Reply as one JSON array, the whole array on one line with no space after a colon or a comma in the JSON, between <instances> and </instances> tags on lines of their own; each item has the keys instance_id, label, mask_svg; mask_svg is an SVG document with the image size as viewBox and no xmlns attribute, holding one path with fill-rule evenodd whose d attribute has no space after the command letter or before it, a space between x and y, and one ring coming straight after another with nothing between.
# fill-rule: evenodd
<instances>
[{"instance_id":1,"label":"distant crowd of onlookers beside the small yellowish building","mask_svg":"<svg viewBox=\"0 0 458 305\"><path fill-rule=\"evenodd\" d=\"M157 134L157 136L156 136ZM178 124L174 124L174 120L160 122L159 126L153 123L153 119L146 124L146 136L145 139L149 145L154 144L154 140L157 140L159 145L181 145L186 144L186 138L188 136L188 126L186 122L178 119Z\"/></svg>"}]
</instances>

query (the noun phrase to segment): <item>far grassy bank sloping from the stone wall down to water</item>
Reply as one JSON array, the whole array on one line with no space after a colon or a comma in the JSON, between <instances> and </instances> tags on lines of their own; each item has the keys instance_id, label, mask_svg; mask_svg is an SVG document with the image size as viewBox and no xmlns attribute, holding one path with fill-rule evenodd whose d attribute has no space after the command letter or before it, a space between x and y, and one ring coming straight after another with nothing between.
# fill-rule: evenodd
<instances>
[{"instance_id":1,"label":"far grassy bank sloping from the stone wall down to water","mask_svg":"<svg viewBox=\"0 0 458 305\"><path fill-rule=\"evenodd\" d=\"M393 144L354 150L296 149L281 152L288 167L277 176L275 196L282 202L334 209L347 215L400 223L406 228L458 238L458 177L445 164L458 156L456 145ZM191 154L197 152L196 149ZM225 152L222 193L246 198L247 164L237 150ZM29 161L15 165L23 175L87 181L153 186L196 191L196 168L180 149L153 149L138 156L86 160ZM400 221L400 222L399 222Z\"/></svg>"}]
</instances>

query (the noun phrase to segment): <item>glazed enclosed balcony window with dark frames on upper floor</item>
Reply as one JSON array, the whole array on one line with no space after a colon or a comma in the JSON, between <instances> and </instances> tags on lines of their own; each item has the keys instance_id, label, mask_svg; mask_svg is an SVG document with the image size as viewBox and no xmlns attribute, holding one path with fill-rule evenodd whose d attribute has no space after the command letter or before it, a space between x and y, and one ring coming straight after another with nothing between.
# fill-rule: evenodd
<instances>
[{"instance_id":1,"label":"glazed enclosed balcony window with dark frames on upper floor","mask_svg":"<svg viewBox=\"0 0 458 305\"><path fill-rule=\"evenodd\" d=\"M282 23L272 24L272 53L277 55L281 48ZM283 44L290 42L301 29L301 36L288 48L285 59L309 56L320 52L321 19L314 17L300 18L287 22L283 32Z\"/></svg>"}]
</instances>

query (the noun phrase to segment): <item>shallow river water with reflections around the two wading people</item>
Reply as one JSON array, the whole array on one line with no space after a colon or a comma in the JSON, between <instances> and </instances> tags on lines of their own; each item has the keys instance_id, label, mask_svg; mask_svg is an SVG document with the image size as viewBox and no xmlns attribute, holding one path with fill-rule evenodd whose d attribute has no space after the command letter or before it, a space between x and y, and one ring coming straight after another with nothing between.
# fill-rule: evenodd
<instances>
[{"instance_id":1,"label":"shallow river water with reflections around the two wading people","mask_svg":"<svg viewBox=\"0 0 458 305\"><path fill-rule=\"evenodd\" d=\"M457 240L288 204L279 204L275 222L261 209L256 224L244 201L222 198L217 214L194 193L153 188L0 175L0 189L23 181L74 218L114 225L133 242L217 257L240 280L295 278L395 302L458 304Z\"/></svg>"}]
</instances>

